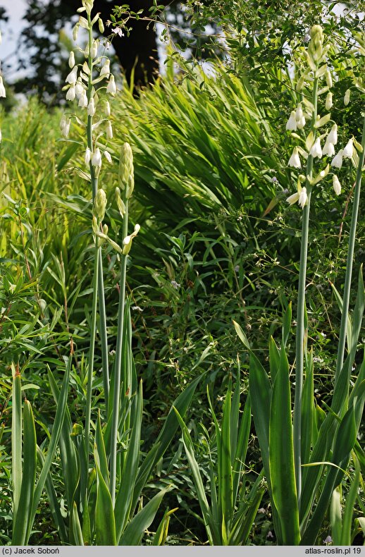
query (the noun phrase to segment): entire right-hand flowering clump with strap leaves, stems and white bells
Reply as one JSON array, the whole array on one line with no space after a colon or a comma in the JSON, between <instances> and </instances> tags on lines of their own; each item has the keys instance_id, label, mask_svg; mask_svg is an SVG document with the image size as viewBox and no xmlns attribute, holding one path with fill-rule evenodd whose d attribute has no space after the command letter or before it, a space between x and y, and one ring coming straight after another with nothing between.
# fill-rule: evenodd
<instances>
[{"instance_id":1,"label":"entire right-hand flowering clump with strap leaves, stems and white bells","mask_svg":"<svg viewBox=\"0 0 365 557\"><path fill-rule=\"evenodd\" d=\"M364 44L364 37L357 39ZM314 25L309 47L304 53L302 75L297 79L299 102L292 109L286 124L286 129L295 140L287 164L293 169L302 170L296 180L297 191L287 198L290 205L298 203L302 209L293 413L287 358L287 342L292 324L291 304L285 313L280 346L271 337L269 375L252 352L242 329L235 324L237 333L250 351L249 392L254 424L271 496L276 537L279 544L285 545L309 545L316 542L333 490L347 474L350 458L354 460L355 466L358 459L364 458L364 451L357 441L357 432L364 407L365 362L357 365L355 361L364 312L361 271L352 315L349 314L349 292L361 173L364 170L365 115L361 144L354 137L339 141L341 130L328 112L336 100L330 91L333 87L333 76L327 62L330 48L331 44L326 43L322 27ZM361 63L364 64L364 61ZM364 94L361 83L357 82L356 85L360 94ZM348 102L347 92L345 105ZM343 145L340 149L339 142ZM342 320L337 365L333 375L333 400L330 406L326 405L326 414L322 409L318 410L314 403L314 357L307 346L309 331L305 292L309 214L312 197L318 195L320 186L328 187L329 176L332 176L335 195L340 195L341 184L337 172L347 160L357 169L357 175L343 299L333 287ZM356 377L350 381L355 369Z\"/></svg>"}]
</instances>

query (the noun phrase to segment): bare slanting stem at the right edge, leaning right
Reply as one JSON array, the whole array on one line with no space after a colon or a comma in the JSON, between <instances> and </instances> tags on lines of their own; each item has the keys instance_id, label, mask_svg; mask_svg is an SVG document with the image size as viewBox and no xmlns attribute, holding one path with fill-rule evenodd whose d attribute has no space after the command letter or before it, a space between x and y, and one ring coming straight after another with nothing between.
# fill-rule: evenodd
<instances>
[{"instance_id":1,"label":"bare slanting stem at the right edge, leaning right","mask_svg":"<svg viewBox=\"0 0 365 557\"><path fill-rule=\"evenodd\" d=\"M342 301L342 316L340 325L340 337L338 341L338 355L337 355L337 365L335 372L335 384L338 381L338 376L342 369L343 359L345 355L345 342L346 342L346 324L347 324L347 314L349 312L349 293L351 288L352 279L352 266L354 262L354 246L356 237L356 227L357 227L357 216L359 214L359 202L360 202L360 191L361 191L361 173L364 166L364 156L365 156L365 114L364 123L362 128L362 138L361 138L362 152L359 154L359 165L357 167L357 175L354 190L354 204L352 208L352 218L351 226L349 229L349 248L347 251L347 262L346 262L346 275L345 275L345 286Z\"/></svg>"}]
</instances>

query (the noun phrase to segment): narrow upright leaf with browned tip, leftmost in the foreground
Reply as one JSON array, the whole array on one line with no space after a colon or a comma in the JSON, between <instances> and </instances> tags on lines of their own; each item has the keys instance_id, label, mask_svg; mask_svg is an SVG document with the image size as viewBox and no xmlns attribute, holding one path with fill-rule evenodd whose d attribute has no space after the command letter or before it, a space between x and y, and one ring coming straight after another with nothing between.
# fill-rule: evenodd
<instances>
[{"instance_id":1,"label":"narrow upright leaf with browned tip, leftmost in the foreground","mask_svg":"<svg viewBox=\"0 0 365 557\"><path fill-rule=\"evenodd\" d=\"M13 483L13 520L18 512L20 489L22 485L22 393L20 374L13 369L13 393L11 416L11 481Z\"/></svg>"}]
</instances>

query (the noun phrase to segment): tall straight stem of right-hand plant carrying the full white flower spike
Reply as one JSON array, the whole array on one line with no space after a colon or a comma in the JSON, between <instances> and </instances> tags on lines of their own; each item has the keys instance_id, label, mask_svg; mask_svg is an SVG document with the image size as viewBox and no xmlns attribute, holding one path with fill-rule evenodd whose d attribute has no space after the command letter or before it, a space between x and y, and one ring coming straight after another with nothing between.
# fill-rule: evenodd
<instances>
[{"instance_id":1,"label":"tall straight stem of right-hand plant carrying the full white flower spike","mask_svg":"<svg viewBox=\"0 0 365 557\"><path fill-rule=\"evenodd\" d=\"M314 79L313 84L313 116L312 130L315 128L314 123L317 119L317 91L318 78ZM309 235L309 211L311 204L311 185L310 178L313 172L313 157L309 154L307 159L306 183L308 192L307 204L303 208L302 220L302 243L300 246L300 267L299 267L299 285L298 285L298 307L297 307L297 337L296 337L296 360L295 360L295 400L293 414L293 434L294 434L294 463L295 463L295 481L297 484L297 497L300 501L302 491L302 391L303 391L303 370L304 370L304 348L305 348L305 287L307 276L307 257L308 257L308 235Z\"/></svg>"}]
</instances>

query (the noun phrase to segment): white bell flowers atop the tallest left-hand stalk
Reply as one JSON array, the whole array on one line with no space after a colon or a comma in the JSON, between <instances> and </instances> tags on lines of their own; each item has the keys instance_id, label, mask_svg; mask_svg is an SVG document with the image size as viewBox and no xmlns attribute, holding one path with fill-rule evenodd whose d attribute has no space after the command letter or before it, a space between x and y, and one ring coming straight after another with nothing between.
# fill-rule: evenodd
<instances>
[{"instance_id":1,"label":"white bell flowers atop the tallest left-hand stalk","mask_svg":"<svg viewBox=\"0 0 365 557\"><path fill-rule=\"evenodd\" d=\"M96 23L99 25L99 31L104 31L104 24L97 13L94 18L91 18L91 11L94 5L94 0L82 0L82 7L78 9L78 13L86 12L87 18L80 16L78 23L76 23L73 29L73 39L76 41L78 39L78 30L80 27L84 28L89 32L89 36L92 37L92 28ZM101 90L106 90L106 94L113 97L116 92L116 80L114 75L111 73L110 60L104 54L99 56L99 39L88 40L85 49L77 47L70 52L68 59L68 66L70 66L70 73L66 77L66 85L63 90L66 90L66 100L73 102L75 99L78 101L78 106L81 109L85 109L87 114L87 123L92 126L92 131L98 128L99 135L105 133L106 138L111 140L113 137L113 128L111 126L111 121L109 116L111 114L111 108L109 101L103 99L99 100L99 92ZM85 57L85 61L82 63L76 63L75 54L81 54ZM101 81L106 80L106 84L99 87L98 90L95 89L95 85ZM102 107L105 118L101 118L97 123L93 123L92 118L97 115L97 109L99 106ZM101 126L100 128L100 125ZM64 137L68 137L70 132L70 118L63 116L60 123L61 133ZM100 129L104 128L104 132ZM91 164L95 167L97 173L101 168L102 154L99 147L96 147L96 140L92 140L92 145L87 145L85 151L85 163ZM111 154L108 151L103 152L105 159L111 163Z\"/></svg>"}]
</instances>

